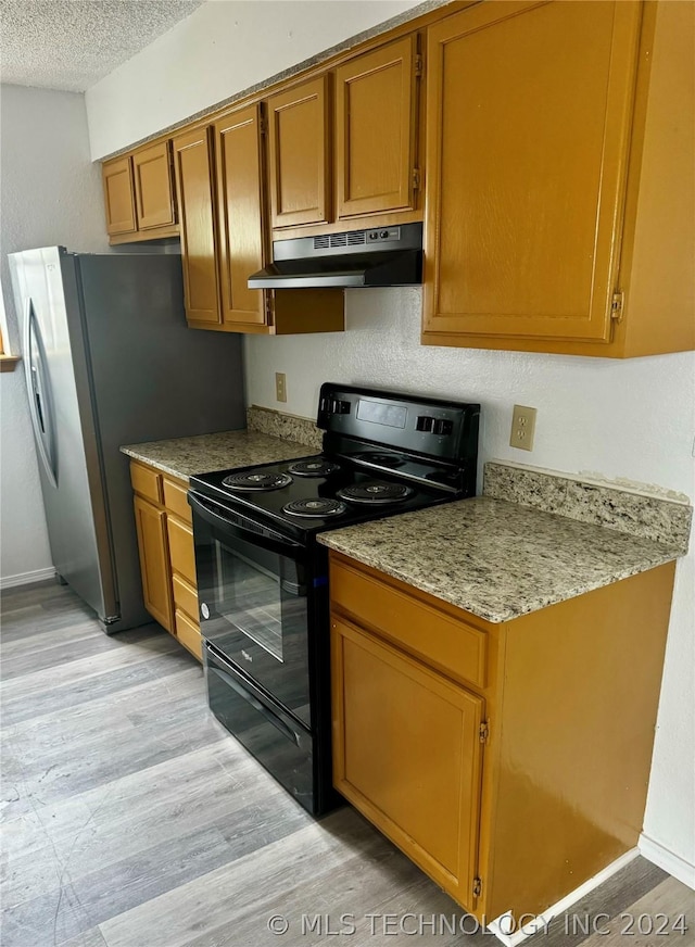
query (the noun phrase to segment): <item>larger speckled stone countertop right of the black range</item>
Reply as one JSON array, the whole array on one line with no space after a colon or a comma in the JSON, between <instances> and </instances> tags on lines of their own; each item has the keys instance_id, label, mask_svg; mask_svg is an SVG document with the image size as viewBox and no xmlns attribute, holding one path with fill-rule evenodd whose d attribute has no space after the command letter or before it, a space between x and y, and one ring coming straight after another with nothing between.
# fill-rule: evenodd
<instances>
[{"instance_id":1,"label":"larger speckled stone countertop right of the black range","mask_svg":"<svg viewBox=\"0 0 695 947\"><path fill-rule=\"evenodd\" d=\"M654 540L489 496L331 530L318 541L492 622L681 554Z\"/></svg>"}]
</instances>

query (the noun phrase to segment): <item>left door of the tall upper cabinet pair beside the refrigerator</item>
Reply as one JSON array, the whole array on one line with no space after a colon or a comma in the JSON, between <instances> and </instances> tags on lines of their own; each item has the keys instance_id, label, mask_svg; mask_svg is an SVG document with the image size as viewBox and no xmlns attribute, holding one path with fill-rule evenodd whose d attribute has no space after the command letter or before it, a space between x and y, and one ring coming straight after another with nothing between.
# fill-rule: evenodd
<instances>
[{"instance_id":1,"label":"left door of the tall upper cabinet pair beside the refrigerator","mask_svg":"<svg viewBox=\"0 0 695 947\"><path fill-rule=\"evenodd\" d=\"M212 129L180 135L173 147L186 317L210 328L219 325Z\"/></svg>"}]
</instances>

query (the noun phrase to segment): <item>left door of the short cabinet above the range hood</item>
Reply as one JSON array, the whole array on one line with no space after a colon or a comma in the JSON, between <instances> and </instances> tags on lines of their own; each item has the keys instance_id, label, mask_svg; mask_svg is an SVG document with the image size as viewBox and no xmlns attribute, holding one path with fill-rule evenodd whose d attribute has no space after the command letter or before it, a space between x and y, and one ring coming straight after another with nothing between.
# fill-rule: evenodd
<instances>
[{"instance_id":1,"label":"left door of the short cabinet above the range hood","mask_svg":"<svg viewBox=\"0 0 695 947\"><path fill-rule=\"evenodd\" d=\"M330 214L328 76L268 99L273 227L321 224Z\"/></svg>"}]
</instances>

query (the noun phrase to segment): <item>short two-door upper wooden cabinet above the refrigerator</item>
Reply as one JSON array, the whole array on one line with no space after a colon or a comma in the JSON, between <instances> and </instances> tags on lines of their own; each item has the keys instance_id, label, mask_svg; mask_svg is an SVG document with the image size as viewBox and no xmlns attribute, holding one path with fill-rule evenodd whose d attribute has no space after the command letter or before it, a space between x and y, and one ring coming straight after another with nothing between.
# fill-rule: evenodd
<instances>
[{"instance_id":1,"label":"short two-door upper wooden cabinet above the refrigerator","mask_svg":"<svg viewBox=\"0 0 695 947\"><path fill-rule=\"evenodd\" d=\"M178 233L169 148L160 141L102 165L111 243Z\"/></svg>"}]
</instances>

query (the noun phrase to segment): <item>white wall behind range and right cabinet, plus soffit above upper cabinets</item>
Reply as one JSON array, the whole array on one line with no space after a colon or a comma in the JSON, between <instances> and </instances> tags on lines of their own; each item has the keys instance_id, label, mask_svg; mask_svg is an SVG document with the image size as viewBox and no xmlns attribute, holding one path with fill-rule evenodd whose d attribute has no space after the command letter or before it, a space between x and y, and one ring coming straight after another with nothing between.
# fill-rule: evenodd
<instances>
[{"instance_id":1,"label":"white wall behind range and right cabinet, plus soffit above upper cabinets","mask_svg":"<svg viewBox=\"0 0 695 947\"><path fill-rule=\"evenodd\" d=\"M384 18L381 7L205 4L90 90L92 153L126 147L331 46L370 17ZM482 459L513 458L695 496L692 353L622 363L424 348L419 290L355 290L348 307L343 334L247 338L249 402L313 416L326 379L475 399L483 405ZM275 371L287 374L286 406L275 401ZM507 445L514 403L539 409L532 454ZM693 572L691 554L678 568L645 832L656 845L652 855L671 858L671 866L681 859L681 876L695 884Z\"/></svg>"}]
</instances>

